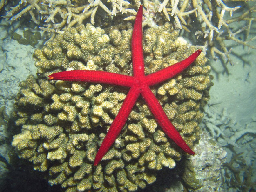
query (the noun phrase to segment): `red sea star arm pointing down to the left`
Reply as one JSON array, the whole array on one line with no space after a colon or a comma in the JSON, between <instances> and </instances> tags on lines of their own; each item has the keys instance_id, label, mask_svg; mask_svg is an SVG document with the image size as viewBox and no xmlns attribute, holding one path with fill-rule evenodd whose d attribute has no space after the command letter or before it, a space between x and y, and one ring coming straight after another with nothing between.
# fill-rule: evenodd
<instances>
[{"instance_id":1,"label":"red sea star arm pointing down to the left","mask_svg":"<svg viewBox=\"0 0 256 192\"><path fill-rule=\"evenodd\" d=\"M101 146L100 146L99 151L96 154L96 157L94 159L94 166L97 166L99 164L102 157L108 152L108 149L115 142L115 139L118 137L119 133L121 132L122 128L124 127L126 120L128 119L128 116L131 113L131 110L132 110L133 106L135 105L136 100L138 99L139 95L140 95L140 89L138 87L133 86L129 90L117 116L115 117L113 123L111 124L111 126L110 126Z\"/></svg>"}]
</instances>

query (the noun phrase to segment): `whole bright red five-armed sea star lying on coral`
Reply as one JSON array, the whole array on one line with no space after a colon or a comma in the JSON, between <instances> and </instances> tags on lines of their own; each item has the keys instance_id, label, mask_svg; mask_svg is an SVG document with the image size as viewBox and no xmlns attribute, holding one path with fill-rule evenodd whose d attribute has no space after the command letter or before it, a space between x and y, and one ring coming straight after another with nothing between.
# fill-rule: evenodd
<instances>
[{"instance_id":1,"label":"whole bright red five-armed sea star lying on coral","mask_svg":"<svg viewBox=\"0 0 256 192\"><path fill-rule=\"evenodd\" d=\"M139 95L141 94L146 101L149 109L154 115L157 123L162 127L165 134L168 135L183 151L194 155L186 142L182 139L179 132L175 129L169 121L162 106L156 99L155 95L150 90L149 86L161 83L169 78L174 77L186 69L194 60L199 56L201 50L197 50L185 60L168 66L158 72L145 76L144 73L144 57L142 47L142 16L143 8L139 7L133 34L132 34L132 63L133 63L133 76L121 75L117 73L110 73L104 71L88 71L88 70L74 70L53 73L49 75L50 80L65 80L65 81L86 81L93 83L107 83L112 85L127 86L130 90L124 99L124 102L110 126L105 139L103 140L99 151L94 159L94 165L98 165L102 157L108 152L108 149L115 142L123 126L128 119L128 116L136 103Z\"/></svg>"}]
</instances>

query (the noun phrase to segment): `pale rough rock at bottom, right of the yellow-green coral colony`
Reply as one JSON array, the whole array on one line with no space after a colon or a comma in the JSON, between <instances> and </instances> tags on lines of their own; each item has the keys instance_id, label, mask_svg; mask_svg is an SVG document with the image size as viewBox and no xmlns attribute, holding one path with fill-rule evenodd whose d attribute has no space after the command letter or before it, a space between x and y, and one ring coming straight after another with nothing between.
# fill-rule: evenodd
<instances>
[{"instance_id":1,"label":"pale rough rock at bottom, right of the yellow-green coral colony","mask_svg":"<svg viewBox=\"0 0 256 192\"><path fill-rule=\"evenodd\" d=\"M198 155L186 161L183 181L189 191L225 192L221 168L226 163L227 152L207 132L200 137L199 144L195 146Z\"/></svg>"}]
</instances>

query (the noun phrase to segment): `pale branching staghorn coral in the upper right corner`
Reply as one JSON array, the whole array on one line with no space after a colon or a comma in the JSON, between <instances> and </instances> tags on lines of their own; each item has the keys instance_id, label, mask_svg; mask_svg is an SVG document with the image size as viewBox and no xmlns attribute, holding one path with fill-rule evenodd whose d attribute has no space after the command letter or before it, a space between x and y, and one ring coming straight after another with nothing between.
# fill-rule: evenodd
<instances>
[{"instance_id":1,"label":"pale branching staghorn coral in the upper right corner","mask_svg":"<svg viewBox=\"0 0 256 192\"><path fill-rule=\"evenodd\" d=\"M254 46L256 37L249 38L252 22L256 20L255 14L253 14L256 6L249 7L239 16L232 17L233 13L240 11L240 7L248 7L249 4L240 3L240 6L228 7L227 3L229 0L204 0L203 2L198 0L170 0L169 2L164 0L158 11L163 11L168 20L170 20L169 15L171 18L173 17L177 28L187 32L191 31L195 33L197 39L202 39L201 43L204 49L210 50L209 53L213 59L217 59L215 54L217 53L223 60L226 60L224 64L233 64L230 58L231 49L228 50L225 41L233 40L236 44L247 46L249 49L256 49ZM188 7L190 8L188 9ZM230 14L230 19L225 17L227 12ZM186 22L184 18L190 23ZM195 21L200 24L197 24L198 26L193 24L195 28L191 28L191 23ZM232 29L230 24L238 21L245 21L248 26L244 26L242 29ZM237 36L240 36L240 33L244 31L246 31L246 39L240 40Z\"/></svg>"}]
</instances>

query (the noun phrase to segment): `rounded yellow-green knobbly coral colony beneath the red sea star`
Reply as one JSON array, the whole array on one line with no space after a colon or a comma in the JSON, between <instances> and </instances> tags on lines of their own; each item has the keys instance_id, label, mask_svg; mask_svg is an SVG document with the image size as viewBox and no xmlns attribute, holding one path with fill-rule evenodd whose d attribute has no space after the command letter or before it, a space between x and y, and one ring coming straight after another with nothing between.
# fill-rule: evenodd
<instances>
[{"instance_id":1,"label":"rounded yellow-green knobbly coral colony beneath the red sea star","mask_svg":"<svg viewBox=\"0 0 256 192\"><path fill-rule=\"evenodd\" d=\"M105 31L87 24L68 28L34 52L38 78L20 83L16 124L21 133L13 146L21 158L46 172L50 185L71 191L131 192L156 179L155 170L175 167L182 151L157 126L139 99L127 125L97 167L94 157L117 115L125 88L84 82L50 82L46 77L64 70L104 70L132 75L132 29ZM145 73L154 73L195 52L166 23L144 32ZM192 147L199 139L200 108L209 100L210 67L204 54L195 64L152 87L168 118Z\"/></svg>"}]
</instances>

